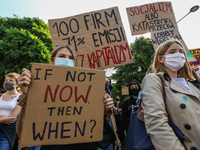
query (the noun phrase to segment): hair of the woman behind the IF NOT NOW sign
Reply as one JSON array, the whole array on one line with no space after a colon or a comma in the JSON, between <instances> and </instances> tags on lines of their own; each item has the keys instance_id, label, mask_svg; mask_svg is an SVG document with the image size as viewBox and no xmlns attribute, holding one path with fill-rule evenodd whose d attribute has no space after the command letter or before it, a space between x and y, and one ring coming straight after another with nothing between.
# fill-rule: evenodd
<instances>
[{"instance_id":1,"label":"hair of the woman behind the IF NOT NOW sign","mask_svg":"<svg viewBox=\"0 0 200 150\"><path fill-rule=\"evenodd\" d=\"M72 48L72 46L70 46L70 45L60 45L60 46L55 47L55 49L51 53L51 60L54 59L54 57L56 56L57 52L62 48L66 48L72 53L72 59L74 60L74 62L76 64L76 52Z\"/></svg>"}]
</instances>

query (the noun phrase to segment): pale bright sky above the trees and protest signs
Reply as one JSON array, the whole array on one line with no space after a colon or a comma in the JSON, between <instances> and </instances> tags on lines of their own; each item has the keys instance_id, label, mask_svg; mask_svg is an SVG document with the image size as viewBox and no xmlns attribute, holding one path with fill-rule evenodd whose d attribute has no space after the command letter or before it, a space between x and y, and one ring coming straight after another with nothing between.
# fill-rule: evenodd
<instances>
[{"instance_id":1,"label":"pale bright sky above the trees and protest signs","mask_svg":"<svg viewBox=\"0 0 200 150\"><path fill-rule=\"evenodd\" d=\"M166 0L0 0L0 17L38 17L45 23L48 19L71 17L82 13L118 7L125 28L128 43L136 37L149 37L149 34L132 36L126 8ZM191 7L200 5L199 0L172 0L176 20L185 16ZM200 48L200 9L190 13L178 23L179 32L189 49Z\"/></svg>"}]
</instances>

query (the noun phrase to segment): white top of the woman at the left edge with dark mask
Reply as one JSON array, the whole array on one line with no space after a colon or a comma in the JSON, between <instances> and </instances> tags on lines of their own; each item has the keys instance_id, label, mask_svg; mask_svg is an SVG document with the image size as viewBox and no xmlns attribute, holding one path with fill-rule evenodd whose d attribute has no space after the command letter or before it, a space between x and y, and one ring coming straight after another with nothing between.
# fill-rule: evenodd
<instances>
[{"instance_id":1,"label":"white top of the woman at the left edge with dark mask","mask_svg":"<svg viewBox=\"0 0 200 150\"><path fill-rule=\"evenodd\" d=\"M14 99L12 99L10 101L3 100L4 94L2 94L0 97L0 115L9 116L12 114L13 110L15 109L15 107L17 105L17 100L18 100L20 94L17 95Z\"/></svg>"}]
</instances>

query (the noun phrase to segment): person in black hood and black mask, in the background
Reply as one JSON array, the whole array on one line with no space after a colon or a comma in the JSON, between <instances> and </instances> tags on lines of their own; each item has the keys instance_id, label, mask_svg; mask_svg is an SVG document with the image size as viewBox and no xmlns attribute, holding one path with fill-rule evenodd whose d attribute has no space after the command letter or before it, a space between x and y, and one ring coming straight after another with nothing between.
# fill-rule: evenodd
<instances>
[{"instance_id":1,"label":"person in black hood and black mask, in the background","mask_svg":"<svg viewBox=\"0 0 200 150\"><path fill-rule=\"evenodd\" d=\"M133 80L128 89L130 97L125 99L122 105L122 120L126 133L128 132L129 128L130 114L138 109L136 101L141 90L140 83L137 80Z\"/></svg>"}]
</instances>

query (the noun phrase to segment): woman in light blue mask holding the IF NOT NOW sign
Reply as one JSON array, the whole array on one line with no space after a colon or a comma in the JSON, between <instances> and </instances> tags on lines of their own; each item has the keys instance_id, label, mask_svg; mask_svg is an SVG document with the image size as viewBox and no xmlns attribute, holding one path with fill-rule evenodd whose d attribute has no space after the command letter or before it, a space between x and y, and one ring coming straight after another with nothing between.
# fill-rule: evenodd
<instances>
[{"instance_id":1,"label":"woman in light blue mask holding the IF NOT NOW sign","mask_svg":"<svg viewBox=\"0 0 200 150\"><path fill-rule=\"evenodd\" d=\"M65 46L58 46L54 49L51 55L51 63L53 65L61 65L61 66L71 66L74 67L76 64L76 53L72 49L71 46L65 45ZM22 70L22 74L19 78L19 86L21 87L21 90L23 92L23 95L20 99L20 105L22 106L22 113L20 115L20 120L17 125L17 130L20 135L21 133L21 127L22 127L22 119L25 113L25 107L26 107L26 94L28 91L28 87L31 82L31 72L27 69ZM113 108L113 99L108 95L104 94L104 97L102 97L104 101L104 114L109 115L111 112L111 108ZM69 144L69 145L42 145L41 150L96 150L98 146L98 142L93 143L80 143L80 144Z\"/></svg>"}]
</instances>

